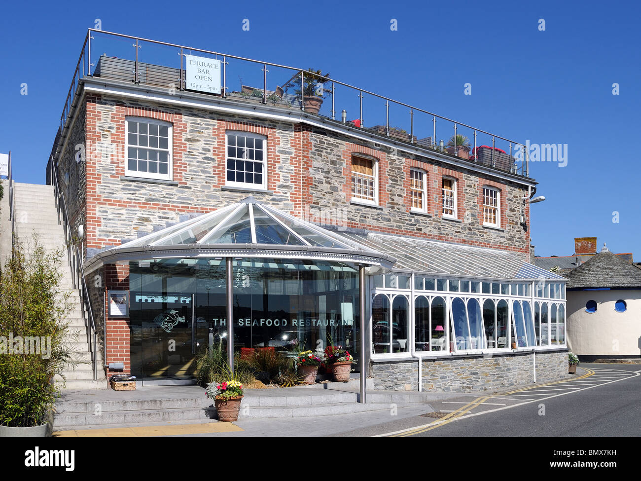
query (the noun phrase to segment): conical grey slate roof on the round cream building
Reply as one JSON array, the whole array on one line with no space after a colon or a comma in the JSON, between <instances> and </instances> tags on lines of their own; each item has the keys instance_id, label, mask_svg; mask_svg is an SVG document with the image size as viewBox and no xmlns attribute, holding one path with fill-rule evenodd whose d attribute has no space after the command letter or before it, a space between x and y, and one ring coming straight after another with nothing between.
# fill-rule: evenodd
<instances>
[{"instance_id":1,"label":"conical grey slate roof on the round cream building","mask_svg":"<svg viewBox=\"0 0 641 481\"><path fill-rule=\"evenodd\" d=\"M565 277L568 289L641 287L641 269L605 247Z\"/></svg>"}]
</instances>

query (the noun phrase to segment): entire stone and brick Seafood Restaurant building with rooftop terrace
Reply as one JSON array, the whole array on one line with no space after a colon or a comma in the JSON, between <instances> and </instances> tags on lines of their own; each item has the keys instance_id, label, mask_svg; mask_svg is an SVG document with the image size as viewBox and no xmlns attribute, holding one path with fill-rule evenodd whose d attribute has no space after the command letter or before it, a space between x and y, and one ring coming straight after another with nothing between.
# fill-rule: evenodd
<instances>
[{"instance_id":1,"label":"entire stone and brick Seafood Restaurant building with rooftop terrace","mask_svg":"<svg viewBox=\"0 0 641 481\"><path fill-rule=\"evenodd\" d=\"M381 389L499 389L567 373L523 147L304 69L90 30L47 182L106 375L185 384L212 342L331 339Z\"/></svg>"}]
</instances>

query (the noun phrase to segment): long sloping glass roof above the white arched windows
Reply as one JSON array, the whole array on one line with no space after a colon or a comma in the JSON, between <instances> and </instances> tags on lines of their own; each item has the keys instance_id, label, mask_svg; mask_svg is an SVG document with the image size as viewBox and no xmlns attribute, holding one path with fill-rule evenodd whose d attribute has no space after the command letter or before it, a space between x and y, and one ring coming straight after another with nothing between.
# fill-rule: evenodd
<instances>
[{"instance_id":1,"label":"long sloping glass roof above the white arched windows","mask_svg":"<svg viewBox=\"0 0 641 481\"><path fill-rule=\"evenodd\" d=\"M394 257L394 270L489 279L559 279L517 253L379 233L341 233L345 239Z\"/></svg>"}]
</instances>

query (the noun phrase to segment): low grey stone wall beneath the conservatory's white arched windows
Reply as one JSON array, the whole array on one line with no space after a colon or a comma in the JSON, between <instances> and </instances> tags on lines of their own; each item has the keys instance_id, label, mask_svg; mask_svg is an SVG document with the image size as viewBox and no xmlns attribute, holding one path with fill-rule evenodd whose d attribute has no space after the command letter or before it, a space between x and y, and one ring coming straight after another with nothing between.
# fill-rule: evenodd
<instances>
[{"instance_id":1,"label":"low grey stone wall beneath the conservatory's white arched windows","mask_svg":"<svg viewBox=\"0 0 641 481\"><path fill-rule=\"evenodd\" d=\"M567 376L567 350L539 351L537 383ZM422 362L422 390L444 392L500 391L532 384L532 354L456 357ZM418 360L372 362L375 389L418 391Z\"/></svg>"}]
</instances>

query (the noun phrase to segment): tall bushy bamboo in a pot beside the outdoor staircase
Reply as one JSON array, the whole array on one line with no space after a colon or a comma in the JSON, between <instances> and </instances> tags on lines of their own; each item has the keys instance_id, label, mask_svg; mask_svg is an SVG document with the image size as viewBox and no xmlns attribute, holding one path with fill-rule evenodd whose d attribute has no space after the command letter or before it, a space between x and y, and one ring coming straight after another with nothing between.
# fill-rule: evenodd
<instances>
[{"instance_id":1,"label":"tall bushy bamboo in a pot beside the outdoor staircase","mask_svg":"<svg viewBox=\"0 0 641 481\"><path fill-rule=\"evenodd\" d=\"M69 347L77 335L65 321L72 305L60 287L63 251L33 241L28 255L17 244L0 276L0 437L51 436L54 376L78 364Z\"/></svg>"}]
</instances>

